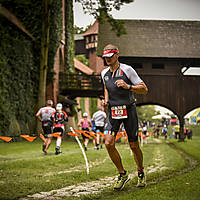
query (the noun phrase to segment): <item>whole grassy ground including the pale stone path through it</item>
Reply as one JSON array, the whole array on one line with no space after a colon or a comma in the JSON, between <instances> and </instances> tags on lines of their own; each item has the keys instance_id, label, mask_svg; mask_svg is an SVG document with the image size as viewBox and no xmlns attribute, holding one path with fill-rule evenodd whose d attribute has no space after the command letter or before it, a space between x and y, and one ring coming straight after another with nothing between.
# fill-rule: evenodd
<instances>
[{"instance_id":1,"label":"whole grassy ground including the pale stone path through it","mask_svg":"<svg viewBox=\"0 0 200 200\"><path fill-rule=\"evenodd\" d=\"M136 165L127 144L116 144L132 179L123 191L112 183L117 170L107 151L86 152L90 173L75 140L64 141L63 154L48 155L34 142L0 143L0 199L200 199L200 137L186 142L149 139L142 147L148 186L138 189ZM46 193L45 193L46 192ZM78 195L78 196L77 196Z\"/></svg>"}]
</instances>

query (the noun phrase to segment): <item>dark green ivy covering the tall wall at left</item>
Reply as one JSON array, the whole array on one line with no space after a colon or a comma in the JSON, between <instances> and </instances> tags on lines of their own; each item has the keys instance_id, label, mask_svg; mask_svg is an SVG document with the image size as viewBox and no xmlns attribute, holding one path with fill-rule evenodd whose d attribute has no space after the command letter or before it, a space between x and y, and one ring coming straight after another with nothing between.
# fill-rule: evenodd
<instances>
[{"instance_id":1,"label":"dark green ivy covering the tall wall at left","mask_svg":"<svg viewBox=\"0 0 200 200\"><path fill-rule=\"evenodd\" d=\"M48 82L53 81L59 45L62 1L53 1L50 16ZM7 0L1 6L22 22L32 40L6 17L0 18L0 135L34 133L41 49L41 1Z\"/></svg>"}]
</instances>

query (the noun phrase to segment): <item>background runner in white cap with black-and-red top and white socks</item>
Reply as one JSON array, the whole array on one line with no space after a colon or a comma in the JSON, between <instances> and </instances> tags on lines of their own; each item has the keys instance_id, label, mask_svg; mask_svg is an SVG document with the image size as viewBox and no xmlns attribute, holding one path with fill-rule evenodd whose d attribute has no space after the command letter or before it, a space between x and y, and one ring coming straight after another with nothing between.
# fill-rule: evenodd
<instances>
[{"instance_id":1,"label":"background runner in white cap with black-and-red top and white socks","mask_svg":"<svg viewBox=\"0 0 200 200\"><path fill-rule=\"evenodd\" d=\"M56 149L55 149L56 150L55 154L58 155L58 154L62 153L60 150L60 147L61 147L61 143L62 143L62 136L65 131L64 122L68 121L68 116L67 116L66 112L62 110L61 103L58 103L56 105L56 111L54 113L52 113L51 120L53 121L53 132L60 133L60 135L57 136Z\"/></svg>"}]
</instances>

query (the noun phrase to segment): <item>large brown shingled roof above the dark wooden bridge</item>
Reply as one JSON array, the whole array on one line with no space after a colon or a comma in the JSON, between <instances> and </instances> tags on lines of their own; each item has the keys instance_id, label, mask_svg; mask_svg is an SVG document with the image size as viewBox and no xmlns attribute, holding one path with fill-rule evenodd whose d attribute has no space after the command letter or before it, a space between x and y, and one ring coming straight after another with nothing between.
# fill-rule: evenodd
<instances>
[{"instance_id":1,"label":"large brown shingled roof above the dark wooden bridge","mask_svg":"<svg viewBox=\"0 0 200 200\"><path fill-rule=\"evenodd\" d=\"M120 37L110 24L99 24L98 55L111 43L119 47L120 56L200 58L200 21L123 21L128 34Z\"/></svg>"}]
</instances>

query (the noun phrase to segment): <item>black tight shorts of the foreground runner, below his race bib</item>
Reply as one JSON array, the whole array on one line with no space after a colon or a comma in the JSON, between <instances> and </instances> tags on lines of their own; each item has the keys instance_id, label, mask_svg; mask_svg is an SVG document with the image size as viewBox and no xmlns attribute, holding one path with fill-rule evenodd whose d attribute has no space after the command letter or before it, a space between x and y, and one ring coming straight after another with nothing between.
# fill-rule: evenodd
<instances>
[{"instance_id":1,"label":"black tight shorts of the foreground runner, below his race bib","mask_svg":"<svg viewBox=\"0 0 200 200\"><path fill-rule=\"evenodd\" d=\"M106 124L104 128L104 134L114 135L116 137L120 125L123 122L124 128L126 130L128 141L137 142L138 141L138 117L136 112L135 104L127 106L127 118L125 119L112 119L111 108L108 107L108 116L106 119Z\"/></svg>"}]
</instances>

